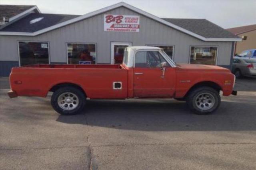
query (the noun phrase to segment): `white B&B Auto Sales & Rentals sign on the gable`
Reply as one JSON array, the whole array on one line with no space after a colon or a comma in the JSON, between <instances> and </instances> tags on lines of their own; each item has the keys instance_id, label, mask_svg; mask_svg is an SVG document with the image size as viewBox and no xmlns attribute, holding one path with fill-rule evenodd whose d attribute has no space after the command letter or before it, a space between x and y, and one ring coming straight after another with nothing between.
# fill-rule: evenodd
<instances>
[{"instance_id":1,"label":"white B&B Auto Sales & Rentals sign on the gable","mask_svg":"<svg viewBox=\"0 0 256 170\"><path fill-rule=\"evenodd\" d=\"M104 31L139 32L140 16L104 15Z\"/></svg>"}]
</instances>

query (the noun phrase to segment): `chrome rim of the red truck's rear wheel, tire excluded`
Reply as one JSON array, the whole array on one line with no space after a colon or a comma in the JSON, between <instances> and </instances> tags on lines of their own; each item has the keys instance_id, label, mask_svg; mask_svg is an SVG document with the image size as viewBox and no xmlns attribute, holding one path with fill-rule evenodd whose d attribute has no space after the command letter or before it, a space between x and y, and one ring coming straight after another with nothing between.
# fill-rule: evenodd
<instances>
[{"instance_id":1,"label":"chrome rim of the red truck's rear wheel, tire excluded","mask_svg":"<svg viewBox=\"0 0 256 170\"><path fill-rule=\"evenodd\" d=\"M73 110L79 104L79 99L74 93L65 92L58 97L58 106L64 110Z\"/></svg>"}]
</instances>

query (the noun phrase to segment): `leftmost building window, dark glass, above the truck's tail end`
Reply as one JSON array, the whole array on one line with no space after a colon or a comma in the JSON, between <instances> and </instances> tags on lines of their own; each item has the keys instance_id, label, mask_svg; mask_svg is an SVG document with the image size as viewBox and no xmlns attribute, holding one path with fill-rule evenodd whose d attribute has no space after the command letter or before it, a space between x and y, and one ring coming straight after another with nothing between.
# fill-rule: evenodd
<instances>
[{"instance_id":1,"label":"leftmost building window, dark glass, above the truck's tail end","mask_svg":"<svg viewBox=\"0 0 256 170\"><path fill-rule=\"evenodd\" d=\"M48 42L18 41L20 66L30 64L49 64Z\"/></svg>"}]
</instances>

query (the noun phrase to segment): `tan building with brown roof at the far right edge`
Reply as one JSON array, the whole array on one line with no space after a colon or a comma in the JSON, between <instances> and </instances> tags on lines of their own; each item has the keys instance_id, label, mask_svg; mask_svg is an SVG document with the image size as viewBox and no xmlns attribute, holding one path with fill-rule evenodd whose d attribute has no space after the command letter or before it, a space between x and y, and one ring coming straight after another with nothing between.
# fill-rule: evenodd
<instances>
[{"instance_id":1,"label":"tan building with brown roof at the far right edge","mask_svg":"<svg viewBox=\"0 0 256 170\"><path fill-rule=\"evenodd\" d=\"M239 37L247 37L246 40L236 42L234 54L240 54L248 49L256 49L256 24L227 29Z\"/></svg>"}]
</instances>

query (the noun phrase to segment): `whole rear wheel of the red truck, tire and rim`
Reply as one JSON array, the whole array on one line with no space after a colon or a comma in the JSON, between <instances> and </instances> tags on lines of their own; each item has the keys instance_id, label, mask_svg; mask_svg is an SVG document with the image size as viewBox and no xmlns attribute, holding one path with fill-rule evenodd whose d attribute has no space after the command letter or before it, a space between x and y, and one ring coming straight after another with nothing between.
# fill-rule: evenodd
<instances>
[{"instance_id":1,"label":"whole rear wheel of the red truck, tire and rim","mask_svg":"<svg viewBox=\"0 0 256 170\"><path fill-rule=\"evenodd\" d=\"M59 88L52 94L51 104L55 111L61 115L75 115L85 106L84 92L72 86Z\"/></svg>"}]
</instances>

